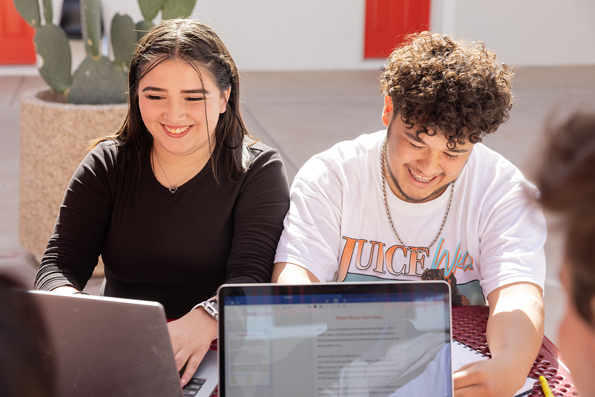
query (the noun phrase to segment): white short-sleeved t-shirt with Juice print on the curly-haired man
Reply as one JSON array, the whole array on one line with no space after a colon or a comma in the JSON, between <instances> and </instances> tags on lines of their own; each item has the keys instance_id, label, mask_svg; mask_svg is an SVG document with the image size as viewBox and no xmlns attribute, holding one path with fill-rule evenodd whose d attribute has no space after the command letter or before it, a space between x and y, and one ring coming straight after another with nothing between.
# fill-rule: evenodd
<instances>
[{"instance_id":1,"label":"white short-sleeved t-shirt with Juice print on the curly-haired man","mask_svg":"<svg viewBox=\"0 0 595 397\"><path fill-rule=\"evenodd\" d=\"M428 251L411 254L386 214L380 165L385 137L379 131L337 143L303 165L275 262L300 265L321 282L447 279L456 285L453 304L486 304L491 291L515 282L543 288L546 223L532 199L536 188L511 162L475 144L456 179L439 239ZM425 248L434 240L450 189L410 203L387 185L394 227L406 245Z\"/></svg>"}]
</instances>

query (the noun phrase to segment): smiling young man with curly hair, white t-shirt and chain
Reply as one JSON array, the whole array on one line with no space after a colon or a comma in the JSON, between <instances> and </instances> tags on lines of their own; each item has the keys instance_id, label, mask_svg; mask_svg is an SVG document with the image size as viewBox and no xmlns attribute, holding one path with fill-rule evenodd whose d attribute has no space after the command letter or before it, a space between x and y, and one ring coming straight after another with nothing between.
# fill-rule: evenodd
<instances>
[{"instance_id":1,"label":"smiling young man with curly hair, white t-shirt and chain","mask_svg":"<svg viewBox=\"0 0 595 397\"><path fill-rule=\"evenodd\" d=\"M306 162L275 257L273 282L420 280L440 269L461 302L487 299L492 359L455 373L457 397L512 396L543 339L537 191L481 144L508 120L512 77L483 43L411 37L381 77L386 131Z\"/></svg>"}]
</instances>

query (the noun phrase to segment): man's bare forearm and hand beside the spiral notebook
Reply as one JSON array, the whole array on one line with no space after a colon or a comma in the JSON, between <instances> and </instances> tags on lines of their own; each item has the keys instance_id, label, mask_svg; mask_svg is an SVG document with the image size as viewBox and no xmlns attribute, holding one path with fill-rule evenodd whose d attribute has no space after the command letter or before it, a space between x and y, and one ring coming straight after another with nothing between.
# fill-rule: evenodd
<instances>
[{"instance_id":1,"label":"man's bare forearm and hand beside the spiral notebook","mask_svg":"<svg viewBox=\"0 0 595 397\"><path fill-rule=\"evenodd\" d=\"M522 387L543 342L541 293L533 283L514 283L488 295L487 343L492 358L453 374L455 397L512 397Z\"/></svg>"}]
</instances>

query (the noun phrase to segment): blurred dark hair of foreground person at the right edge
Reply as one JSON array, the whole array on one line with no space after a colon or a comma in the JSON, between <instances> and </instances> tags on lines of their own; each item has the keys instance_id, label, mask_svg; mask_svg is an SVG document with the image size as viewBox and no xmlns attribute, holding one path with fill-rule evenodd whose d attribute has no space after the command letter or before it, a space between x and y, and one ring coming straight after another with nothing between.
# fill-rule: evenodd
<instances>
[{"instance_id":1,"label":"blurred dark hair of foreground person at the right edge","mask_svg":"<svg viewBox=\"0 0 595 397\"><path fill-rule=\"evenodd\" d=\"M572 304L595 326L595 113L577 112L550 127L538 168L539 201L562 215Z\"/></svg>"}]
</instances>

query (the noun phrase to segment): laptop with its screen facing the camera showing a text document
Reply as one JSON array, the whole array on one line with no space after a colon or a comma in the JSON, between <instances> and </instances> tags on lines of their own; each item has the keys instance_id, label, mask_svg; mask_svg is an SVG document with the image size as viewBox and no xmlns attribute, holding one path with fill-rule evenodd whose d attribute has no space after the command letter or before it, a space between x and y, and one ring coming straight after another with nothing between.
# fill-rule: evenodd
<instances>
[{"instance_id":1,"label":"laptop with its screen facing the camera showing a text document","mask_svg":"<svg viewBox=\"0 0 595 397\"><path fill-rule=\"evenodd\" d=\"M226 285L221 396L450 396L446 282Z\"/></svg>"}]
</instances>

